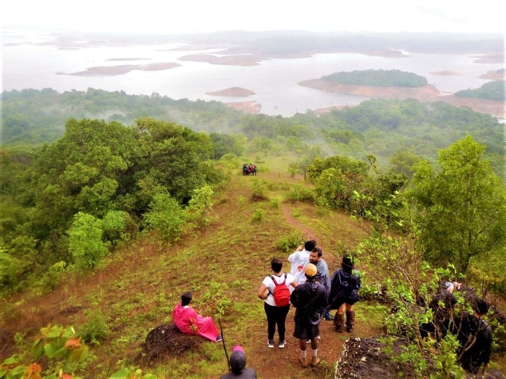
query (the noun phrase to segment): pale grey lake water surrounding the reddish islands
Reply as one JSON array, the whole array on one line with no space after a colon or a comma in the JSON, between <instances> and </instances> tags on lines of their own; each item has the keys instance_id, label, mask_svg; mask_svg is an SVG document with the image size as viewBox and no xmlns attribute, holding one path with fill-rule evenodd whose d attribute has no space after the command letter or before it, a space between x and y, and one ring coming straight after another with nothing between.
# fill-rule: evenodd
<instances>
[{"instance_id":1,"label":"pale grey lake water surrounding the reddish islands","mask_svg":"<svg viewBox=\"0 0 506 379\"><path fill-rule=\"evenodd\" d=\"M178 58L198 53L213 54L218 50L170 51L178 44L128 46L95 46L63 50L54 44L37 44L54 40L54 36L34 31L7 30L3 38L4 90L51 87L60 92L89 87L109 91L124 90L128 94L158 92L173 99L217 100L225 103L256 101L268 115L292 116L308 109L338 105L356 105L367 98L323 92L297 83L319 78L336 71L366 69L399 69L427 78L439 91L453 93L476 88L486 83L480 75L502 68L502 64L474 63L478 54L411 54L410 58L373 57L363 54L316 54L311 58L270 59L259 66L224 66L205 62L182 61ZM87 42L87 41L83 41ZM409 52L407 52L409 53ZM110 61L118 58L144 60ZM147 59L147 60L146 60ZM181 65L161 71L139 71L115 76L58 75L85 71L94 66L151 64L174 62ZM430 72L455 71L461 75L433 75ZM205 92L229 87L243 87L256 92L249 97L209 96Z\"/></svg>"}]
</instances>

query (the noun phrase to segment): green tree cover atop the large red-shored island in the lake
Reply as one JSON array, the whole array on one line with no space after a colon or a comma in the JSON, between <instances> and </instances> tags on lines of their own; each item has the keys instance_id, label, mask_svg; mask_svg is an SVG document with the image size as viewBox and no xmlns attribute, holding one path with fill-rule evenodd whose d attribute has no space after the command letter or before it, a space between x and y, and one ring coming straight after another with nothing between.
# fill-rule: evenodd
<instances>
[{"instance_id":1,"label":"green tree cover atop the large red-shored island in the lake","mask_svg":"<svg viewBox=\"0 0 506 379\"><path fill-rule=\"evenodd\" d=\"M341 71L322 76L321 79L332 83L373 87L423 87L427 85L427 79L423 76L401 70Z\"/></svg>"}]
</instances>

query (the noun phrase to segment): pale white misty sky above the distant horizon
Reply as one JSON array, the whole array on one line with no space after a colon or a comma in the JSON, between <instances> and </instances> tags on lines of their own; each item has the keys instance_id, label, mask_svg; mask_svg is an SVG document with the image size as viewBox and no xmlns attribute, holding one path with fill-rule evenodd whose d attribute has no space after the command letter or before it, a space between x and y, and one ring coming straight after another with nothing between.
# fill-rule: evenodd
<instances>
[{"instance_id":1,"label":"pale white misty sky above the distant horizon","mask_svg":"<svg viewBox=\"0 0 506 379\"><path fill-rule=\"evenodd\" d=\"M502 0L27 0L2 4L3 27L132 33L220 30L465 32L504 35Z\"/></svg>"}]
</instances>

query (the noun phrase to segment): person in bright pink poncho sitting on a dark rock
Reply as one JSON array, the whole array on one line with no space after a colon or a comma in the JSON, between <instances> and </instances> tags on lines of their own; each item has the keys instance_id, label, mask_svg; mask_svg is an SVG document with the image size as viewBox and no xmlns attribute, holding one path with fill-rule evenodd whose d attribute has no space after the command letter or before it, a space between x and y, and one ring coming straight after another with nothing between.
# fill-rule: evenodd
<instances>
[{"instance_id":1,"label":"person in bright pink poncho sitting on a dark rock","mask_svg":"<svg viewBox=\"0 0 506 379\"><path fill-rule=\"evenodd\" d=\"M181 302L176 305L172 312L174 324L181 333L198 335L206 340L218 342L222 340L212 317L200 316L190 307L192 295L185 292L181 295Z\"/></svg>"}]
</instances>

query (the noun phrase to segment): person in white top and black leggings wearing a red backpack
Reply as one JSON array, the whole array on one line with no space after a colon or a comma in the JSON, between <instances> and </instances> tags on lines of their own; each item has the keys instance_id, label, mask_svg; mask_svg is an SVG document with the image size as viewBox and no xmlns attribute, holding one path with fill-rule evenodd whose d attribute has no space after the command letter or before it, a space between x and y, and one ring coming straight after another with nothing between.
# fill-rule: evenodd
<instances>
[{"instance_id":1,"label":"person in white top and black leggings wearing a red backpack","mask_svg":"<svg viewBox=\"0 0 506 379\"><path fill-rule=\"evenodd\" d=\"M282 273L283 262L274 258L271 261L273 274L267 275L258 289L258 297L265 300L264 309L267 316L267 346L274 347L274 332L278 325L279 348L284 348L285 320L290 309L290 290L288 286L297 287L297 280L292 274Z\"/></svg>"}]
</instances>

